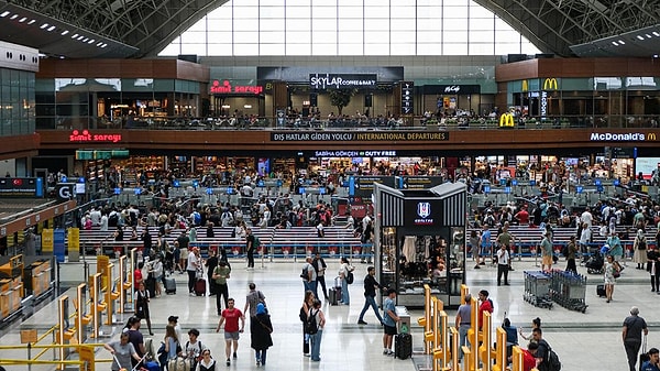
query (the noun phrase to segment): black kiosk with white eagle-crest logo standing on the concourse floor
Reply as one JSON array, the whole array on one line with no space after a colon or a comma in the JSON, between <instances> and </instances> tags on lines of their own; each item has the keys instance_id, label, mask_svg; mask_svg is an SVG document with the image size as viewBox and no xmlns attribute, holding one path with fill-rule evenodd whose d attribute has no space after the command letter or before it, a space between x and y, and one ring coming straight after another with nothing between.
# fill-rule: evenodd
<instances>
[{"instance_id":1,"label":"black kiosk with white eagle-crest logo standing on the concourse floor","mask_svg":"<svg viewBox=\"0 0 660 371\"><path fill-rule=\"evenodd\" d=\"M424 307L425 284L444 307L461 304L466 192L463 183L415 190L374 184L376 275L396 288L397 305Z\"/></svg>"}]
</instances>

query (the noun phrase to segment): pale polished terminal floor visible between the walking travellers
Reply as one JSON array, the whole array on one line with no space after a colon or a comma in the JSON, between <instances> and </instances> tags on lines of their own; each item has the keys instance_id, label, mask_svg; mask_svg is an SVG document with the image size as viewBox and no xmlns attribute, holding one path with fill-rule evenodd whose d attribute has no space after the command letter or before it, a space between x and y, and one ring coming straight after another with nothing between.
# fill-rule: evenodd
<instances>
[{"instance_id":1,"label":"pale polished terminal floor visible between the walking travellers","mask_svg":"<svg viewBox=\"0 0 660 371\"><path fill-rule=\"evenodd\" d=\"M329 272L339 268L338 260L328 260ZM560 268L565 263L560 261ZM245 271L242 260L232 261L232 276L229 282L230 296L237 299L242 309L248 293L248 284L254 282L257 290L265 296L267 306L272 314L274 327L274 347L268 350L267 365L270 370L418 370L428 367L425 357L416 356L413 360L398 360L383 356L382 327L376 325L373 312L367 312L365 320L369 325L358 325L358 316L363 305L362 284L358 277L366 273L366 264L356 263L356 281L350 286L350 306L323 305L328 324L323 331L321 342L321 361L311 362L309 358L302 357L301 326L298 319L298 310L302 301L302 283L299 279L302 261L279 260L274 262L257 261L254 271ZM640 308L640 316L649 324L648 345L660 346L660 332L657 331L660 321L658 318L658 306L660 296L651 293L649 275L646 271L636 270L634 264L628 263L627 269L618 279L614 293L614 301L605 303L604 298L596 296L597 283L602 282L600 275L587 275L586 304L588 308L585 314L568 310L559 305L552 309L537 308L522 299L524 271L538 270L534 259L515 261L514 272L510 272L510 286L496 285L496 269L482 266L474 270L472 266L468 272L468 284L473 293L480 290L491 292L495 304L494 318L498 325L504 313L510 318L515 326L521 326L525 332L529 332L529 324L532 318L540 317L544 329L544 338L559 354L563 370L627 370L627 361L622 345L622 323L628 315L631 305ZM90 264L94 272L96 268ZM584 268L579 271L586 274ZM62 285L74 286L85 277L81 263L63 264ZM200 340L212 350L215 358L224 360L224 343L222 334L216 334L219 317L217 316L215 297L189 296L186 287L186 275L175 274L178 291L176 295L163 295L154 298L151 303L152 323L155 332L154 338L161 340L164 336L166 319L170 315L179 316L179 324L184 330L197 328L201 332ZM69 296L75 293L69 291ZM2 345L18 345L20 342L18 329L37 328L40 334L51 327L56 317L56 304L50 303L33 316L18 321L15 325L2 331ZM452 316L455 312L450 312ZM413 321L421 316L421 312L411 310ZM120 315L120 319L124 319ZM143 324L143 334L148 332ZM113 329L117 337L119 327ZM421 348L421 328L416 324L413 326L414 348ZM520 339L521 345L525 341ZM221 369L256 369L253 351L250 349L250 334L243 334L240 340L238 361L227 368L221 362ZM24 351L0 352L0 364L3 358L25 358ZM97 359L109 359L110 354L100 349ZM9 371L28 370L25 365L6 367ZM32 370L50 370L45 367L33 367ZM97 364L97 370L109 370L109 364Z\"/></svg>"}]
</instances>

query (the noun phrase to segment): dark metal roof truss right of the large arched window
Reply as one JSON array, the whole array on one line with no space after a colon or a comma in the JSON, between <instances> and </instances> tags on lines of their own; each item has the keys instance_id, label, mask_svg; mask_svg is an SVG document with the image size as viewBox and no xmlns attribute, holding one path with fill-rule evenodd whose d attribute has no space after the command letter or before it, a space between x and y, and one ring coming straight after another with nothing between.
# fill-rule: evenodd
<instances>
[{"instance_id":1,"label":"dark metal roof truss right of the large arched window","mask_svg":"<svg viewBox=\"0 0 660 371\"><path fill-rule=\"evenodd\" d=\"M660 24L660 0L475 0L541 51L572 55L570 46Z\"/></svg>"}]
</instances>

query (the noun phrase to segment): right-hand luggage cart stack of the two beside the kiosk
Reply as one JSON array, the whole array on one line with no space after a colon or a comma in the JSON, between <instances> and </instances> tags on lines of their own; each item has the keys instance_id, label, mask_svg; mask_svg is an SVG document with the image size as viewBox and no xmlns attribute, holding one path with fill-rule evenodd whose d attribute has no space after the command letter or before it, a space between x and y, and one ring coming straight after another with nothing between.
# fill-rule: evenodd
<instances>
[{"instance_id":1,"label":"right-hand luggage cart stack of the two beside the kiosk","mask_svg":"<svg viewBox=\"0 0 660 371\"><path fill-rule=\"evenodd\" d=\"M550 287L552 299L569 310L585 313L588 305L586 295L586 276L566 271L552 272Z\"/></svg>"}]
</instances>

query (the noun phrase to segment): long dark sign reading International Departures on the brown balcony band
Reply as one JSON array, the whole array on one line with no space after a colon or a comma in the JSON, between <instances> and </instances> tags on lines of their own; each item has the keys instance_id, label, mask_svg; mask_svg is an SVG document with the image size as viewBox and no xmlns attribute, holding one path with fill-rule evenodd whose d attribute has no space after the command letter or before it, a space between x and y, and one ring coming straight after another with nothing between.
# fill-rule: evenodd
<instances>
[{"instance_id":1,"label":"long dark sign reading International Departures on the brown balcony band","mask_svg":"<svg viewBox=\"0 0 660 371\"><path fill-rule=\"evenodd\" d=\"M449 132L272 132L272 142L435 142L448 141Z\"/></svg>"}]
</instances>

